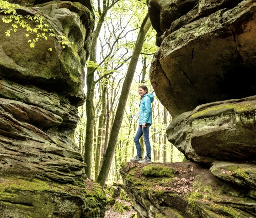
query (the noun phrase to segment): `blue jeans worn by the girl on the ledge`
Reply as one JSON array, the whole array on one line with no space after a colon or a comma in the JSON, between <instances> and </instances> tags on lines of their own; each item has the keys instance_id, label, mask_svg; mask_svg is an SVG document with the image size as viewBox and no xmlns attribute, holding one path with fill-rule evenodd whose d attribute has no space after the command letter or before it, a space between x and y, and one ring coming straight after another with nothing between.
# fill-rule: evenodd
<instances>
[{"instance_id":1,"label":"blue jeans worn by the girl on the ledge","mask_svg":"<svg viewBox=\"0 0 256 218\"><path fill-rule=\"evenodd\" d=\"M146 152L147 152L147 156L149 158L151 158L151 146L150 146L150 142L149 142L149 127L151 126L150 123L146 123L146 127L143 128L142 125L139 125L139 129L134 137L134 142L135 142L135 146L136 146L136 150L137 150L137 155L139 157L141 157L141 147L140 147L140 143L139 143L139 139L140 137L143 135L144 137L144 142L146 145Z\"/></svg>"}]
</instances>

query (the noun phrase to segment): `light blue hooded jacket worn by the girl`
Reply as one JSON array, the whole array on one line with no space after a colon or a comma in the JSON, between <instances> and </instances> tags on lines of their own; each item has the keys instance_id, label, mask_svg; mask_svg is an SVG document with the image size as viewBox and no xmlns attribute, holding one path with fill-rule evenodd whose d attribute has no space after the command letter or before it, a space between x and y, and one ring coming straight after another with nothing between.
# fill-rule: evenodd
<instances>
[{"instance_id":1,"label":"light blue hooded jacket worn by the girl","mask_svg":"<svg viewBox=\"0 0 256 218\"><path fill-rule=\"evenodd\" d=\"M151 103L154 101L153 93L146 94L142 97L140 101L139 108L139 125L145 123L152 124L152 109Z\"/></svg>"}]
</instances>

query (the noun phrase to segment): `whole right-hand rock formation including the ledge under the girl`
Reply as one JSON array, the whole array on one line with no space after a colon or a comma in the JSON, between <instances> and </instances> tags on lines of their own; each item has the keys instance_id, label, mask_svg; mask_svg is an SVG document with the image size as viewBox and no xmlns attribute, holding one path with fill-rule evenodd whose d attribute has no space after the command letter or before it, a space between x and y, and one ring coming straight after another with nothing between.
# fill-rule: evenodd
<instances>
[{"instance_id":1,"label":"whole right-hand rock formation including the ledge under the girl","mask_svg":"<svg viewBox=\"0 0 256 218\"><path fill-rule=\"evenodd\" d=\"M150 80L190 162L122 167L138 217L256 218L256 1L148 4Z\"/></svg>"}]
</instances>

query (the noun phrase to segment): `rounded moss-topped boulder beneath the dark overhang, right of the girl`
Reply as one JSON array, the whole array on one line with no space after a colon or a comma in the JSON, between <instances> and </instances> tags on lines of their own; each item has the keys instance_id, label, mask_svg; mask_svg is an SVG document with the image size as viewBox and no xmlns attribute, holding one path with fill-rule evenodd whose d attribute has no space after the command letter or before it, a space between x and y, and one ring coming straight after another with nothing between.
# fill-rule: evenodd
<instances>
[{"instance_id":1,"label":"rounded moss-topped boulder beneath the dark overhang, right of the girl","mask_svg":"<svg viewBox=\"0 0 256 218\"><path fill-rule=\"evenodd\" d=\"M190 160L255 160L255 116L256 96L208 103L176 117L167 137Z\"/></svg>"}]
</instances>

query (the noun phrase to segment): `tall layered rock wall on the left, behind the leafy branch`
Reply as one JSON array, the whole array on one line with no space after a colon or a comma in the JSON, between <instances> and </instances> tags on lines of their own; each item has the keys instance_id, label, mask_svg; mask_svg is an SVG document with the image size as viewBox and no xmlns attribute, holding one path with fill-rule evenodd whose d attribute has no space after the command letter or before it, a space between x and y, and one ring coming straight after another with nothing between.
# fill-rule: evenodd
<instances>
[{"instance_id":1,"label":"tall layered rock wall on the left, behind the leafy branch","mask_svg":"<svg viewBox=\"0 0 256 218\"><path fill-rule=\"evenodd\" d=\"M42 15L55 37L30 48L36 36L19 27L8 37L10 24L0 25L0 218L104 217L105 194L86 179L74 141L94 26L90 0L18 3L30 6L18 14ZM58 35L74 45L63 49Z\"/></svg>"}]
</instances>

